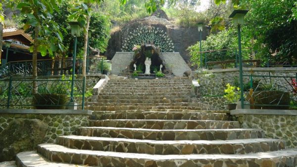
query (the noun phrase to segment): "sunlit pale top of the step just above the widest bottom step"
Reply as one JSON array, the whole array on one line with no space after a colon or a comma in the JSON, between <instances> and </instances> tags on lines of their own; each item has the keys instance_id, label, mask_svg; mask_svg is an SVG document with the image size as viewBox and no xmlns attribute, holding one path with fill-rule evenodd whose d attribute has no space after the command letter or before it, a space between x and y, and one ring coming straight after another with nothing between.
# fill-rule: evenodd
<instances>
[{"instance_id":1,"label":"sunlit pale top of the step just above the widest bottom step","mask_svg":"<svg viewBox=\"0 0 297 167\"><path fill-rule=\"evenodd\" d=\"M88 141L114 141L114 142L131 142L131 143L148 143L148 144L249 144L249 143L263 143L263 142L283 142L281 139L271 138L255 138L255 139L234 139L234 140L147 140L147 139L129 139L129 138L112 138L112 137L94 137L94 136L79 136L79 135L67 135L57 136L57 138L68 139L81 139Z\"/></svg>"}]
</instances>

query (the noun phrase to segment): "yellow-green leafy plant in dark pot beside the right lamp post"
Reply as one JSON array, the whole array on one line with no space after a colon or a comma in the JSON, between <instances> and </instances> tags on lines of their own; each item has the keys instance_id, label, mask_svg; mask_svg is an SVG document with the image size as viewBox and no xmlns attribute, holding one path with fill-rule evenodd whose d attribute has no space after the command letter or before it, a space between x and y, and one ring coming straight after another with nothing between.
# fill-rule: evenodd
<instances>
[{"instance_id":1,"label":"yellow-green leafy plant in dark pot beside the right lamp post","mask_svg":"<svg viewBox=\"0 0 297 167\"><path fill-rule=\"evenodd\" d=\"M235 110L236 109L236 102L240 99L240 88L236 86L230 85L230 83L226 84L226 89L224 90L225 95L224 97L229 102L228 109L229 110Z\"/></svg>"}]
</instances>

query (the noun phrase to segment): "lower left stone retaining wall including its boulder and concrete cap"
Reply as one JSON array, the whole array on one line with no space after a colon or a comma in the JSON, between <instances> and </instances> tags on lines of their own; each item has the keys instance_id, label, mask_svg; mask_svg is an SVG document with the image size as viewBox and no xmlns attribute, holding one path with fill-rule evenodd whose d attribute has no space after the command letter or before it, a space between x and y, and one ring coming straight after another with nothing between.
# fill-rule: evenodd
<instances>
[{"instance_id":1,"label":"lower left stone retaining wall including its boulder and concrete cap","mask_svg":"<svg viewBox=\"0 0 297 167\"><path fill-rule=\"evenodd\" d=\"M90 110L0 110L0 162L89 125Z\"/></svg>"}]
</instances>

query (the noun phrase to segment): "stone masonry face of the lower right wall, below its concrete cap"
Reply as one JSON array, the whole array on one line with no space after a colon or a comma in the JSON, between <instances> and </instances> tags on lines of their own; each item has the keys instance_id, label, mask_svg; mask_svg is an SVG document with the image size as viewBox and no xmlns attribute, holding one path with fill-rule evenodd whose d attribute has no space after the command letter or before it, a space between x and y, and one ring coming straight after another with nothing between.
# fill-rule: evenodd
<instances>
[{"instance_id":1,"label":"stone masonry face of the lower right wall, below its concrete cap","mask_svg":"<svg viewBox=\"0 0 297 167\"><path fill-rule=\"evenodd\" d=\"M297 148L296 115L236 115L243 128L260 128L265 137L286 140L287 148Z\"/></svg>"}]
</instances>

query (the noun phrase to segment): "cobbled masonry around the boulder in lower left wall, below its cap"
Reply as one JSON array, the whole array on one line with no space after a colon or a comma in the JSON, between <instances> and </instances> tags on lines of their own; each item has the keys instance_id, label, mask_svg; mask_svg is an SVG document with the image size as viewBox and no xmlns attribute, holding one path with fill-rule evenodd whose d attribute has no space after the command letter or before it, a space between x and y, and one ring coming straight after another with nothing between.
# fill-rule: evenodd
<instances>
[{"instance_id":1,"label":"cobbled masonry around the boulder in lower left wall, below its cap","mask_svg":"<svg viewBox=\"0 0 297 167\"><path fill-rule=\"evenodd\" d=\"M53 143L59 135L76 134L76 129L88 126L88 115L74 114L0 114L0 133L16 119L38 119L48 125L44 142Z\"/></svg>"}]
</instances>

